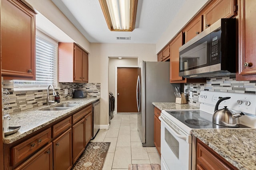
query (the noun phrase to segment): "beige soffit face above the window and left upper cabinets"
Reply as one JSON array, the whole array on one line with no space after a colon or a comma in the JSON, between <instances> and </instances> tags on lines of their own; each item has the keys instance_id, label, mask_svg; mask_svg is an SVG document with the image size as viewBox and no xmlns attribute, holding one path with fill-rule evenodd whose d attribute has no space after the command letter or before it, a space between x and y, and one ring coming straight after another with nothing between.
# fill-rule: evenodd
<instances>
[{"instance_id":1,"label":"beige soffit face above the window and left upper cabinets","mask_svg":"<svg viewBox=\"0 0 256 170\"><path fill-rule=\"evenodd\" d=\"M90 42L51 0L26 0L26 2L90 53Z\"/></svg>"}]
</instances>

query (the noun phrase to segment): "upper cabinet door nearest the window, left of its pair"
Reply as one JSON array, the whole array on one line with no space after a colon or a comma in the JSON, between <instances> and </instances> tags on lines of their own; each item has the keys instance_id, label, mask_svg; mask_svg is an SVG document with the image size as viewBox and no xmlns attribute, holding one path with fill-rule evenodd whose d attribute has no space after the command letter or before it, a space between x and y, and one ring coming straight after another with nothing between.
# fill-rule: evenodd
<instances>
[{"instance_id":1,"label":"upper cabinet door nearest the window, left of its pair","mask_svg":"<svg viewBox=\"0 0 256 170\"><path fill-rule=\"evenodd\" d=\"M74 45L74 80L82 81L82 49Z\"/></svg>"}]
</instances>

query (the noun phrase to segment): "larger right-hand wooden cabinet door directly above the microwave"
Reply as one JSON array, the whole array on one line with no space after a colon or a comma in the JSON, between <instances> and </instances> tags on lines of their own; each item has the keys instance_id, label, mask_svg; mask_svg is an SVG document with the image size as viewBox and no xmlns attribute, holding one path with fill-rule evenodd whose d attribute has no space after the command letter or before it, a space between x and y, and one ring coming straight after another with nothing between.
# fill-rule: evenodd
<instances>
[{"instance_id":1,"label":"larger right-hand wooden cabinet door directly above the microwave","mask_svg":"<svg viewBox=\"0 0 256 170\"><path fill-rule=\"evenodd\" d=\"M236 15L236 0L214 0L203 13L204 29L206 29L220 18Z\"/></svg>"}]
</instances>

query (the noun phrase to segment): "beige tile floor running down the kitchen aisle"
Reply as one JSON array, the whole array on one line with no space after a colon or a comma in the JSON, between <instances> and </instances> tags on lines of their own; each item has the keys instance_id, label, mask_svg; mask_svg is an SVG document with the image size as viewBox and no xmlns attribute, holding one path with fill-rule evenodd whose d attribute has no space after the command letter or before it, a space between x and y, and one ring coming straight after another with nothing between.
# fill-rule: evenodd
<instances>
[{"instance_id":1,"label":"beige tile floor running down the kitchen aisle","mask_svg":"<svg viewBox=\"0 0 256 170\"><path fill-rule=\"evenodd\" d=\"M111 142L103 170L128 170L128 164L161 164L155 147L142 147L135 114L115 114L110 128L101 129L91 142Z\"/></svg>"}]
</instances>

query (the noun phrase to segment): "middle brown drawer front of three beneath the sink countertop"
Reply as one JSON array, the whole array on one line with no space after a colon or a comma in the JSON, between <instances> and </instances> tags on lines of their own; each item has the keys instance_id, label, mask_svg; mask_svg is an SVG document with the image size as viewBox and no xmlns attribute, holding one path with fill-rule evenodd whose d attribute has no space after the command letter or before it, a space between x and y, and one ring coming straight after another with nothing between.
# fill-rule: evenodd
<instances>
[{"instance_id":1,"label":"middle brown drawer front of three beneath the sink countertop","mask_svg":"<svg viewBox=\"0 0 256 170\"><path fill-rule=\"evenodd\" d=\"M66 131L68 128L71 127L72 118L71 116L66 118L65 120L61 121L60 123L57 123L56 125L52 126L52 138L56 137L60 133Z\"/></svg>"}]
</instances>

